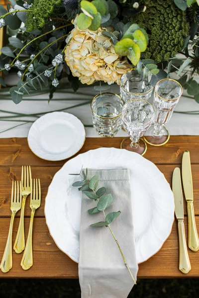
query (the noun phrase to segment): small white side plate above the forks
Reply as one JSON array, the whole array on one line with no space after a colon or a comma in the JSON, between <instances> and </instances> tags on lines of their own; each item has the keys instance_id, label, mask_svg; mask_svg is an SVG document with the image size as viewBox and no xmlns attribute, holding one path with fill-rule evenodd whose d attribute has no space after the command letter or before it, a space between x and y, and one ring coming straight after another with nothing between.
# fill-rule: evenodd
<instances>
[{"instance_id":1,"label":"small white side plate above the forks","mask_svg":"<svg viewBox=\"0 0 199 298\"><path fill-rule=\"evenodd\" d=\"M76 116L52 112L33 123L28 133L28 146L40 158L62 160L77 153L85 137L84 125Z\"/></svg>"}]
</instances>

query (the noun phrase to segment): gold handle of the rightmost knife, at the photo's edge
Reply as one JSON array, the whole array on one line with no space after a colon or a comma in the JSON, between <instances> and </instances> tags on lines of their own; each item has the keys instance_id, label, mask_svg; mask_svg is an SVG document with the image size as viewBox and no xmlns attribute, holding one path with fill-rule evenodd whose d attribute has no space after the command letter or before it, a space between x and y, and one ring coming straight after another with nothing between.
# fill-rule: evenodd
<instances>
[{"instance_id":1,"label":"gold handle of the rightmost knife, at the photo's edge","mask_svg":"<svg viewBox=\"0 0 199 298\"><path fill-rule=\"evenodd\" d=\"M187 202L188 209L188 221L189 221L189 248L197 251L199 250L199 236L196 227L195 215L194 215L194 204L193 201Z\"/></svg>"}]
</instances>

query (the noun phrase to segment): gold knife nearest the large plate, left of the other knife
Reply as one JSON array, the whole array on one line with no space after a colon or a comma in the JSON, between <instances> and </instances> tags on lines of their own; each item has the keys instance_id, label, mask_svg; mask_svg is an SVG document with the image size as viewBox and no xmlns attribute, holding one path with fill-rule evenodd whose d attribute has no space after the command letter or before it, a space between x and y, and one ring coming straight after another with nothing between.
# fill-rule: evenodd
<instances>
[{"instance_id":1,"label":"gold knife nearest the large plate, left of the other knife","mask_svg":"<svg viewBox=\"0 0 199 298\"><path fill-rule=\"evenodd\" d=\"M184 225L184 209L183 209L183 192L181 185L180 168L175 168L173 172L172 189L174 193L175 214L178 219L179 233L179 269L183 273L188 273L191 270L190 259L187 251L187 243L185 238Z\"/></svg>"}]
</instances>

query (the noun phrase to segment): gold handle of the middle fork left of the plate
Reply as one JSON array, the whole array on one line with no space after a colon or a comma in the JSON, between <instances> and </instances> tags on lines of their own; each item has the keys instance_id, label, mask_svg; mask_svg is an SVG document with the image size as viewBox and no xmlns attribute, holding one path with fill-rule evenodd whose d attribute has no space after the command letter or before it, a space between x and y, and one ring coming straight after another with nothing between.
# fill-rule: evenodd
<instances>
[{"instance_id":1,"label":"gold handle of the middle fork left of the plate","mask_svg":"<svg viewBox=\"0 0 199 298\"><path fill-rule=\"evenodd\" d=\"M19 225L18 225L16 239L14 241L14 247L13 248L14 248L16 253L21 253L25 248L24 208L25 208L26 197L27 196L23 196L23 199L22 199L20 221L19 221Z\"/></svg>"}]
</instances>

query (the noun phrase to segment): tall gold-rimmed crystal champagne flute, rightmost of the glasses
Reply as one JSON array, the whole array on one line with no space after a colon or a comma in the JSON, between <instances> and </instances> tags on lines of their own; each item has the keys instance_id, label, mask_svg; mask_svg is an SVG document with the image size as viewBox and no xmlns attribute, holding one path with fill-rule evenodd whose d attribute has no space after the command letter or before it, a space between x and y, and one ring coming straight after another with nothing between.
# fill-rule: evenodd
<instances>
[{"instance_id":1,"label":"tall gold-rimmed crystal champagne flute, rightmost of the glasses","mask_svg":"<svg viewBox=\"0 0 199 298\"><path fill-rule=\"evenodd\" d=\"M153 100L155 123L147 131L147 136L144 136L148 144L163 146L169 141L170 135L164 125L171 119L182 93L183 87L174 79L165 78L156 83Z\"/></svg>"}]
</instances>

